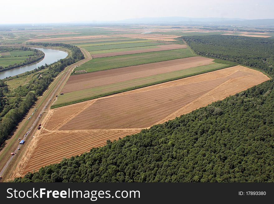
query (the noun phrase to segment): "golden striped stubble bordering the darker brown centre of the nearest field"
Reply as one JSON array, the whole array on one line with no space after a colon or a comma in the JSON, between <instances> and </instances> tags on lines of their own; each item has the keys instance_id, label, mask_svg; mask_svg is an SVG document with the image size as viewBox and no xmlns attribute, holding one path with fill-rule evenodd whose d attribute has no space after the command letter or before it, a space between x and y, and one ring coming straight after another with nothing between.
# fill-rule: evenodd
<instances>
[{"instance_id":1,"label":"golden striped stubble bordering the darker brown centre of the nearest field","mask_svg":"<svg viewBox=\"0 0 274 204\"><path fill-rule=\"evenodd\" d=\"M73 68L74 69L74 68ZM72 70L73 70L72 69ZM72 71L71 70L71 71ZM237 73L238 71L243 71L243 72L249 72L245 76L239 76L243 75L244 73ZM214 73L219 73L216 75L211 76ZM234 75L235 74L235 75ZM88 107L92 106L94 102L100 99L105 99L105 98L110 98L110 97L116 97L116 96L121 96L121 95L127 95L127 94L132 94L132 93L140 93L140 92L145 92L145 91L150 91L154 89L161 89L161 88L168 88L168 87L173 87L173 86L180 86L184 84L192 84L196 83L197 80L203 79L203 81L211 81L212 79L219 79L219 78L224 78L224 80L220 80L220 82L223 82L219 85L217 85L215 88L212 88L210 91L206 92L202 96L194 99L193 101L189 102L185 106L179 108L178 110L174 111L173 113L169 114L168 116L164 117L163 119L159 120L157 123L153 125L157 125L163 122L166 122L168 120L174 119L177 116L181 116L182 114L186 114L188 112L191 112L192 110L195 110L199 107L203 107L208 105L209 102L212 100L222 100L220 97L227 97L227 94L232 93L234 88L237 90L245 90L246 87L248 87L248 83L244 82L243 80L239 79L244 79L248 78L250 76L253 76L251 80L253 80L252 84L256 84L256 78L257 80L262 83L262 81L265 81L268 79L262 78L262 77L257 77L257 75L262 75L262 73L258 74L258 71L256 70L250 70L248 68L242 67L242 66L235 66L233 69L230 70L229 73L223 71L223 72L211 72L211 75L203 75L203 78L189 78L187 81L182 81L180 83L180 80L175 80L172 82L167 82L163 84L156 84L150 87L144 87L124 93L118 93L106 97L101 97L97 99L93 99L89 102L81 102L78 103L78 105L81 105L80 110L77 110L76 112L73 112L73 114L67 114L67 118L64 117L59 119L53 114L59 114L62 113L62 111L70 111L69 109L73 108L73 105L70 105L70 108L68 106L66 108L60 107L54 110L51 110L48 112L46 117L43 120L43 123L49 124L49 127L42 127L42 130L39 132L36 132L35 134L35 140L30 147L29 151L24 155L22 159L22 164L18 166L16 169L14 175L15 176L21 176L26 171L29 170L38 170L41 165L49 165L51 163L57 163L59 162L62 158L60 158L59 154L61 154L63 157L71 157L71 156L76 156L81 153L84 153L87 151L87 149L91 147L100 147L106 143L106 139L117 139L118 137L125 137L126 135L129 134L135 134L140 132L142 129L145 128L115 128L115 129L73 129L73 130L59 130L60 127L62 127L64 124L68 123L70 120L72 120L75 116L79 115L83 111L85 111ZM234 76L233 76L234 75ZM229 78L229 77L234 77L234 78ZM228 78L227 80L225 78ZM192 79L195 79L194 81ZM235 81L234 87L228 87L229 91L226 91L225 86L226 84L229 84L230 82ZM64 85L64 84L63 84ZM252 85L253 86L253 85ZM250 87L250 86L249 86ZM218 92L216 90L219 89L219 95L216 95ZM56 111L58 110L58 111ZM56 112L55 112L56 111ZM50 124L51 123L51 124ZM57 123L57 126L54 126L54 123ZM52 125L53 124L53 125ZM151 126L153 126L151 125ZM149 129L151 126L147 127ZM53 129L51 129L53 127ZM73 134L74 137L71 137L70 134ZM52 143L46 143L46 140L51 140L55 137L57 137L56 140ZM43 137L43 139L41 139ZM41 142L43 145L38 144L38 141L41 139ZM64 141L63 141L64 140ZM45 144L44 144L45 142ZM38 145L37 145L38 144ZM38 148L38 149L36 149ZM33 155L35 154L37 155ZM47 160L43 160L44 157L47 157ZM26 167L27 166L27 167ZM14 178L14 177L13 177Z\"/></svg>"}]
</instances>

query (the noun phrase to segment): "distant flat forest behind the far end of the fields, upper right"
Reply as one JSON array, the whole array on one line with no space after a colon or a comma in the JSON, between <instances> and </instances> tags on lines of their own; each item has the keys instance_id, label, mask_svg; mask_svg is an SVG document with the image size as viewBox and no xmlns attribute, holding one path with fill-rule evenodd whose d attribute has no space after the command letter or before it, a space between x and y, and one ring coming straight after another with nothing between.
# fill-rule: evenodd
<instances>
[{"instance_id":1,"label":"distant flat forest behind the far end of the fields, upper right","mask_svg":"<svg viewBox=\"0 0 274 204\"><path fill-rule=\"evenodd\" d=\"M199 55L253 66L274 75L274 40L234 35L181 37Z\"/></svg>"}]
</instances>

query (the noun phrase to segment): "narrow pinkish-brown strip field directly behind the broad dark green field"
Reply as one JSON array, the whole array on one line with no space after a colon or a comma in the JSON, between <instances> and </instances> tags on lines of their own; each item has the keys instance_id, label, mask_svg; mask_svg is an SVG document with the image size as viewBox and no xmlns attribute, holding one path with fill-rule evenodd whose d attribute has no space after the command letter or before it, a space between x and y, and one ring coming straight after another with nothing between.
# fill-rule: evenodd
<instances>
[{"instance_id":1,"label":"narrow pinkish-brown strip field directly behind the broad dark green field","mask_svg":"<svg viewBox=\"0 0 274 204\"><path fill-rule=\"evenodd\" d=\"M175 49L182 49L187 48L187 45L179 45L179 44L167 44L167 45L158 45L157 48L151 49L138 49L132 51L124 51L124 52L109 52L109 53L101 53L101 54L91 54L92 58L99 58L99 57L111 57L117 55L128 55L128 54L137 54L143 52L155 52L155 51L163 51L163 50L175 50Z\"/></svg>"}]
</instances>

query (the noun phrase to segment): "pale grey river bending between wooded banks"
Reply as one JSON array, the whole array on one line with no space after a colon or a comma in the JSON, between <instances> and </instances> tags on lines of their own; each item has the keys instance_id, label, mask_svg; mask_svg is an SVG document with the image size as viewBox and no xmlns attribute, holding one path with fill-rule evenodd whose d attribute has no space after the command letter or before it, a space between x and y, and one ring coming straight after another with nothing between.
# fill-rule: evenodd
<instances>
[{"instance_id":1,"label":"pale grey river bending between wooded banks","mask_svg":"<svg viewBox=\"0 0 274 204\"><path fill-rule=\"evenodd\" d=\"M2 71L2 72L0 72L0 79L4 79L9 76L19 75L26 71L34 70L35 68L37 68L41 65L45 65L45 64L49 65L55 61L58 61L59 59L64 59L65 57L68 56L67 52L64 52L61 50L54 50L54 49L49 49L49 48L34 48L34 49L38 49L38 50L41 50L42 52L44 52L45 57L42 60L32 63L30 65L20 66L20 67L11 69L11 70Z\"/></svg>"}]
</instances>

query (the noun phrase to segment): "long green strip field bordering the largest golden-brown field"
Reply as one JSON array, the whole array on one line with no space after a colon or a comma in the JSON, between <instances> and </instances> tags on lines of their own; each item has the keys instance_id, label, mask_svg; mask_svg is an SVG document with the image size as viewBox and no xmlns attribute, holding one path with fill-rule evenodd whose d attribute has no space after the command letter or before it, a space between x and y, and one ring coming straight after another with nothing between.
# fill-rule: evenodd
<instances>
[{"instance_id":1,"label":"long green strip field bordering the largest golden-brown field","mask_svg":"<svg viewBox=\"0 0 274 204\"><path fill-rule=\"evenodd\" d=\"M202 65L197 67L191 67L188 69L181 69L177 71L167 72L158 75L146 76L137 79L130 79L116 82L112 84L106 84L91 88L85 88L82 90L76 90L72 92L65 93L58 97L58 100L54 103L54 107L66 106L69 104L91 100L94 98L112 95L115 93L121 93L136 88L142 88L146 86L151 86L154 84L160 84L167 81L172 81L176 79L182 79L185 77L190 77L193 75L203 74L210 71L215 71L229 67L229 65L213 63L208 65Z\"/></svg>"}]
</instances>

